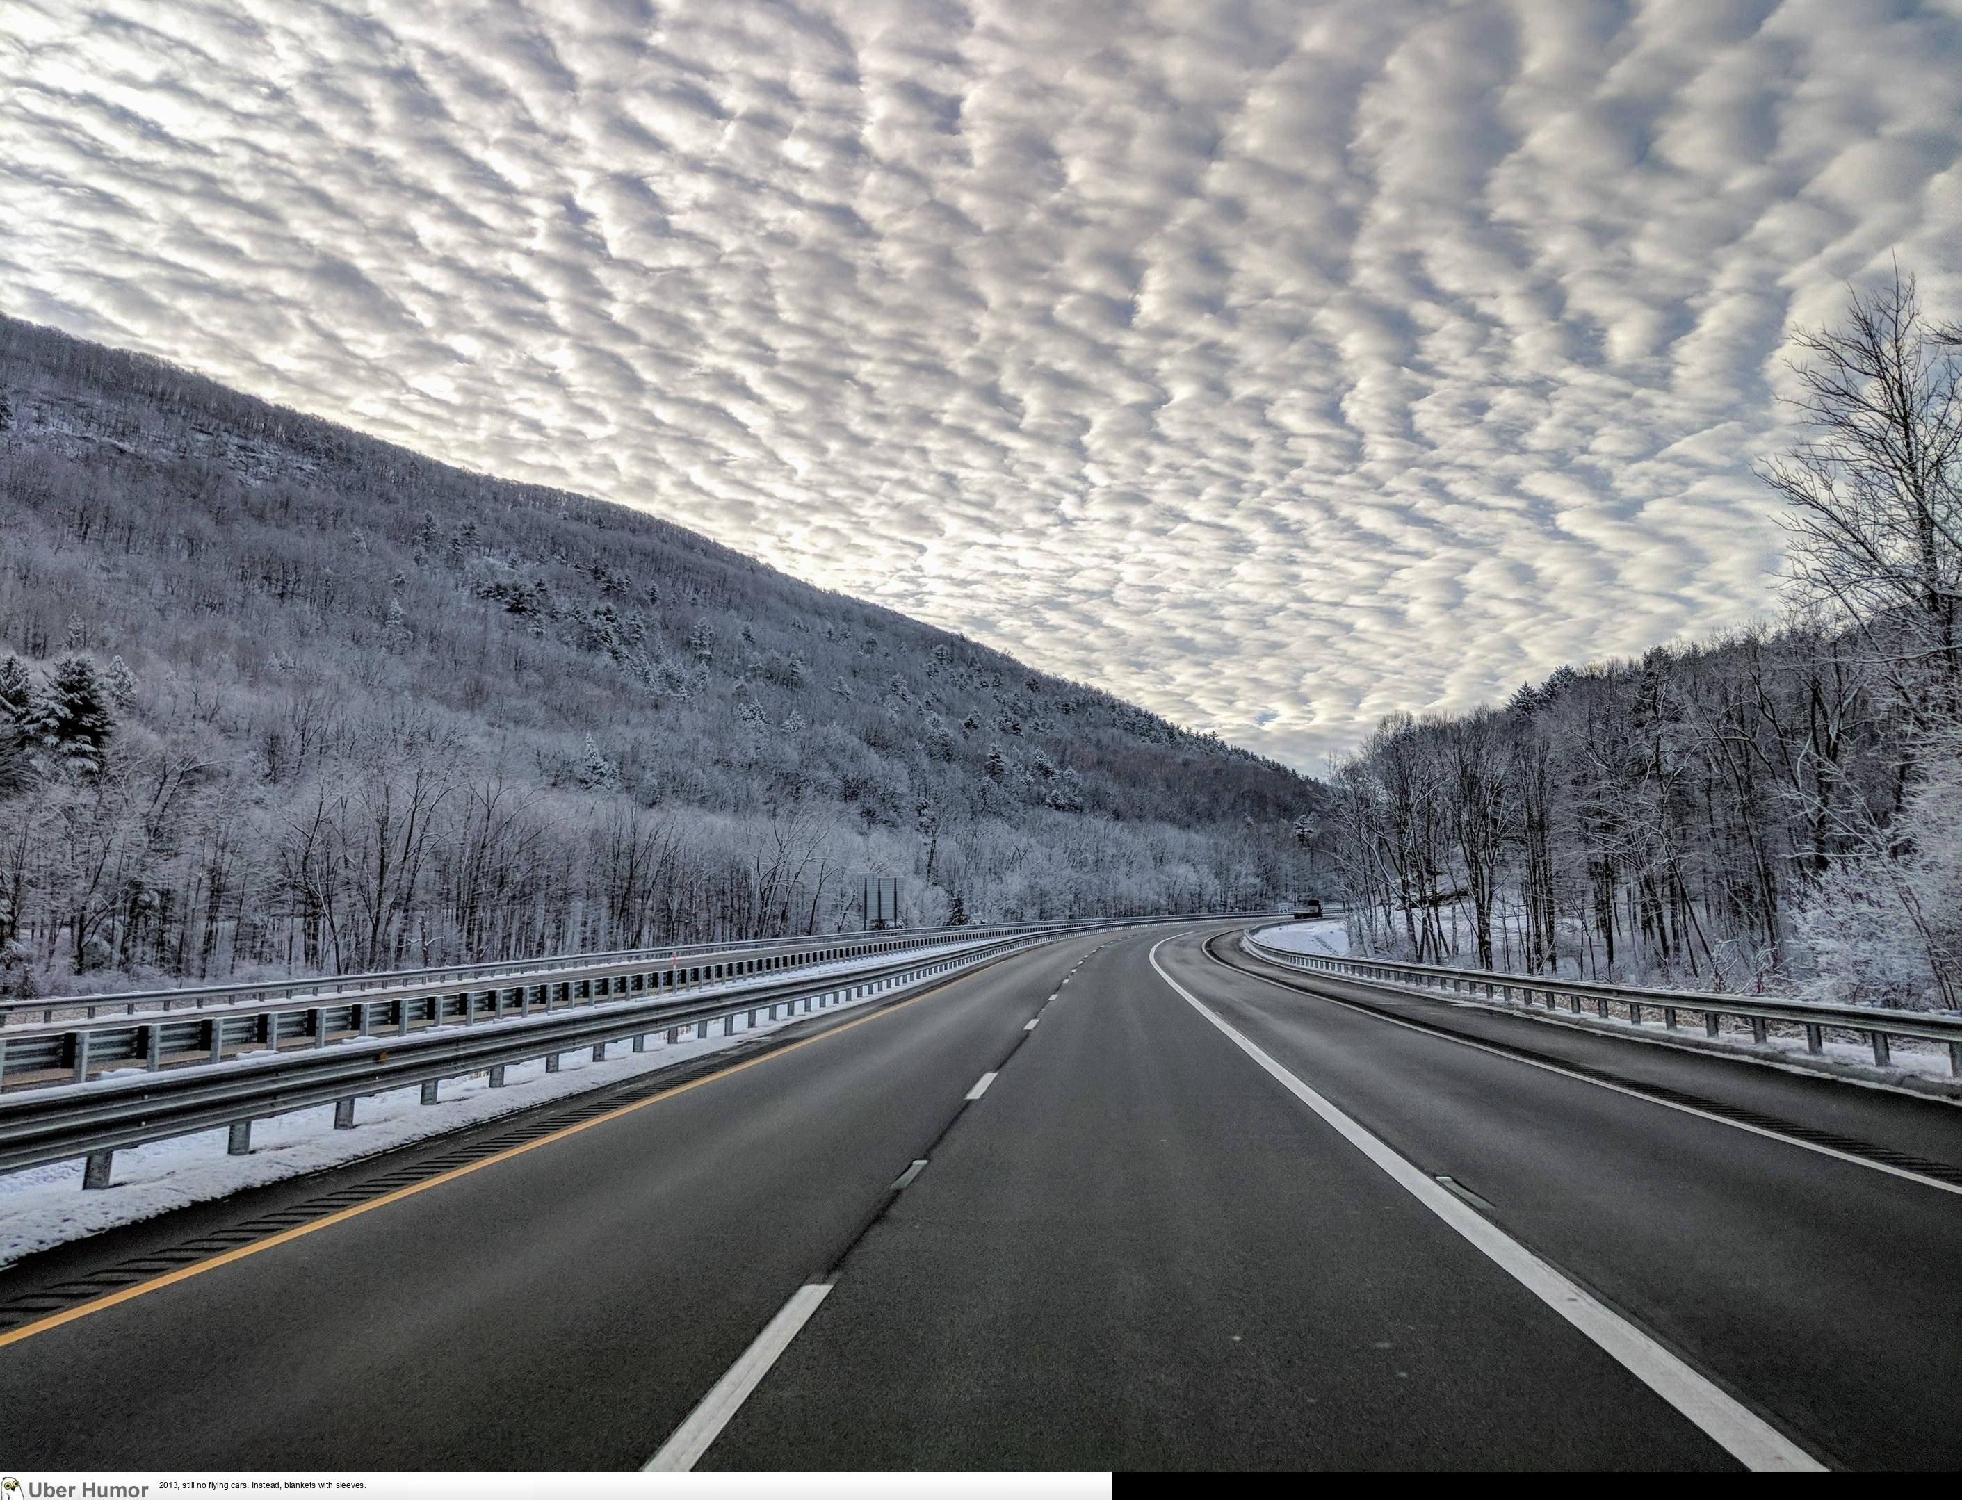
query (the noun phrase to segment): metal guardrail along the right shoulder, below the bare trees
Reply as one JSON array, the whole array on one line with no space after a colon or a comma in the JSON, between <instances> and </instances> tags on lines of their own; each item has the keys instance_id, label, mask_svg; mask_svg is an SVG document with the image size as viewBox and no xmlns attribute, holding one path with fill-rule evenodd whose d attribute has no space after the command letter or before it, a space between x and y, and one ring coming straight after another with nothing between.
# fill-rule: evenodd
<instances>
[{"instance_id":1,"label":"metal guardrail along the right shoulder, below the bare trees","mask_svg":"<svg viewBox=\"0 0 1962 1500\"><path fill-rule=\"evenodd\" d=\"M1489 969L1446 969L1428 963L1295 953L1260 941L1264 931L1271 931L1271 927L1244 933L1240 941L1256 957L1291 969L1342 975L1371 984L1475 994L1528 1008L1544 1000L1548 1010L1566 1004L1575 1016L1581 1014L1583 1006L1591 1006L1601 1020L1611 1020L1615 1012L1621 1012L1632 1025L1642 1025L1642 1014L1654 1010L1662 1014L1668 1031L1676 1031L1679 1014L1689 1012L1703 1018L1703 1033L1709 1037L1721 1037L1723 1022L1734 1020L1748 1025L1750 1039L1760 1045L1768 1041L1770 1025L1793 1025L1803 1027L1805 1051L1815 1057L1825 1053L1827 1031L1852 1031L1866 1037L1874 1049L1876 1067L1889 1065L1893 1037L1942 1041L1948 1045L1948 1073L1962 1076L1962 1016L1954 1012L1878 1010L1876 1006L1836 1006L1819 1000L1760 1000L1707 990L1646 990L1550 975L1501 975Z\"/></svg>"}]
</instances>

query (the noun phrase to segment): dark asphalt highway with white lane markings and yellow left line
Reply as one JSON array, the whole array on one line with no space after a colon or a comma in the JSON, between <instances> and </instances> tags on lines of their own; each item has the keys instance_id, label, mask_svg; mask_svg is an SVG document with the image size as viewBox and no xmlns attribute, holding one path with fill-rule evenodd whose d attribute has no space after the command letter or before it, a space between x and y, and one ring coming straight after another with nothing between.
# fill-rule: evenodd
<instances>
[{"instance_id":1,"label":"dark asphalt highway with white lane markings and yellow left line","mask_svg":"<svg viewBox=\"0 0 1962 1500\"><path fill-rule=\"evenodd\" d=\"M1962 1465L1962 1110L1283 973L1232 931L1069 937L577 1120L26 1261L0 1449Z\"/></svg>"}]
</instances>

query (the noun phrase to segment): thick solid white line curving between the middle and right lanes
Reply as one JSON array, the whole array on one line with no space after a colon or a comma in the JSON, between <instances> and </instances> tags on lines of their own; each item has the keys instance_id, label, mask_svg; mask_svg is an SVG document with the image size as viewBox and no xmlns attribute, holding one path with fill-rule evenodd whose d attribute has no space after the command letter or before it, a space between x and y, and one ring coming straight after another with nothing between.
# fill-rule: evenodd
<instances>
[{"instance_id":1,"label":"thick solid white line curving between the middle and right lanes","mask_svg":"<svg viewBox=\"0 0 1962 1500\"><path fill-rule=\"evenodd\" d=\"M1169 937L1163 937L1152 945L1152 969L1158 971L1158 976L1165 980L1165 984L1169 984L1173 992L1185 1000L1185 1004L1224 1031L1226 1037L1262 1069L1265 1069L1275 1082L1307 1104L1369 1161L1381 1167L1399 1188L1417 1198L1417 1202L1464 1235L1481 1255L1485 1255L1485 1259L1585 1333L1603 1353L1634 1375L1636 1380L1689 1418L1689 1422L1701 1427L1732 1459L1752 1471L1825 1471L1825 1465L1778 1431L1778 1427L1768 1424L1742 1402L1719 1390L1707 1378L1689 1369L1689 1365L1648 1337L1642 1329L1601 1306L1593 1296L1562 1276L1546 1265L1546 1261L1507 1235L1483 1214L1473 1212L1444 1186L1399 1157L1391 1147L1350 1120L1342 1114L1342 1110L1317 1094L1301 1082L1301 1078L1264 1053L1256 1043L1220 1020L1220 1016L1193 996L1191 990L1167 975L1163 965L1158 961L1158 949L1169 941Z\"/></svg>"}]
</instances>

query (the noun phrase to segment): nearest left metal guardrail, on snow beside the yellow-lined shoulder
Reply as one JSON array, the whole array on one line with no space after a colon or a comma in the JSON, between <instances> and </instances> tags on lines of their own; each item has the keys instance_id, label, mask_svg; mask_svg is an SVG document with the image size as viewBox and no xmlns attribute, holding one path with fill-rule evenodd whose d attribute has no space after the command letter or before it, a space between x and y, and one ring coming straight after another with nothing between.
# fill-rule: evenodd
<instances>
[{"instance_id":1,"label":"nearest left metal guardrail, on snow beside the yellow-lined shoulder","mask_svg":"<svg viewBox=\"0 0 1962 1500\"><path fill-rule=\"evenodd\" d=\"M1095 927L1177 920L1181 918L1107 920ZM1083 924L1020 927L1012 933L975 935L954 953L891 957L832 976L757 980L685 998L667 988L638 996L616 992L591 996L585 1006L508 1014L502 1024L473 1024L451 1016L406 1035L355 1035L334 1047L265 1049L224 1065L10 1090L0 1096L0 1173L82 1157L88 1163L82 1186L106 1188L114 1153L124 1147L226 1125L230 1151L243 1155L251 1149L253 1122L269 1116L334 1104L336 1127L351 1127L361 1096L420 1084L422 1102L436 1104L445 1078L489 1073L490 1086L500 1088L504 1069L545 1059L545 1071L551 1073L563 1053L581 1047L591 1047L594 1059L604 1059L608 1045L628 1041L634 1051L642 1051L645 1039L663 1029L669 1041L679 1039L685 1027L697 1027L706 1037L710 1024L718 1020L722 1033L734 1035L738 1022L755 1029L777 1022L777 1012L785 1008L822 1010L867 992L971 969L1081 929ZM938 947L946 949L948 943Z\"/></svg>"}]
</instances>

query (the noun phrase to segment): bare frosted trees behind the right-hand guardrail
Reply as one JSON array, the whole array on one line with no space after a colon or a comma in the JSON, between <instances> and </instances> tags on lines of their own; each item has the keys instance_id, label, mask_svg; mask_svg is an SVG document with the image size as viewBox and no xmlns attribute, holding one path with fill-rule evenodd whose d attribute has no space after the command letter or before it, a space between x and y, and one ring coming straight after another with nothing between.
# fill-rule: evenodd
<instances>
[{"instance_id":1,"label":"bare frosted trees behind the right-hand guardrail","mask_svg":"<svg viewBox=\"0 0 1962 1500\"><path fill-rule=\"evenodd\" d=\"M1962 329L1895 282L1801 353L1791 618L1385 720L1326 816L1352 941L1962 1004Z\"/></svg>"}]
</instances>

